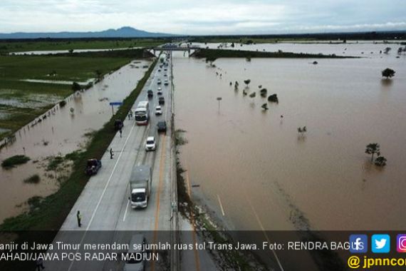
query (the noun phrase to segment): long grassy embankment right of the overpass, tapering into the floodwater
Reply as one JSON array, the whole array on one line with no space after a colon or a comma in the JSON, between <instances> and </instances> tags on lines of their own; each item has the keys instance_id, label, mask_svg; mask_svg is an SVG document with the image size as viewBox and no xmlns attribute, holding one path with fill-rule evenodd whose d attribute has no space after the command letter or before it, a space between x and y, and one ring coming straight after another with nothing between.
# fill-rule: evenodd
<instances>
[{"instance_id":1,"label":"long grassy embankment right of the overpass, tapering into the floodwater","mask_svg":"<svg viewBox=\"0 0 406 271\"><path fill-rule=\"evenodd\" d=\"M316 53L239 51L223 49L201 49L193 53L194 57L207 58L214 61L217 58L351 58L350 56L323 55Z\"/></svg>"}]
</instances>

